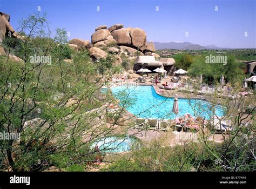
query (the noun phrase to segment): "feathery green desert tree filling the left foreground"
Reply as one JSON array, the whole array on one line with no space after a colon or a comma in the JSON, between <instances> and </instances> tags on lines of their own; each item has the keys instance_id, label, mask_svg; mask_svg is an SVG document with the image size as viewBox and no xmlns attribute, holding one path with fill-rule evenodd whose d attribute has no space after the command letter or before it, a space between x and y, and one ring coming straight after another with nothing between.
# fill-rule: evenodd
<instances>
[{"instance_id":1,"label":"feathery green desert tree filling the left foreground","mask_svg":"<svg viewBox=\"0 0 256 189\"><path fill-rule=\"evenodd\" d=\"M45 21L39 15L24 19L21 26L27 38L6 43L8 48L20 48L22 62L0 57L0 132L21 134L19 141L0 141L3 170L43 171L55 166L83 171L102 160L103 153L91 145L111 133L98 116L104 116L100 108L113 98L100 88L119 68L112 68L110 57L92 62L87 51L74 54L72 63L64 61L71 56L65 32L45 36ZM32 62L35 55L51 57L51 62Z\"/></svg>"}]
</instances>

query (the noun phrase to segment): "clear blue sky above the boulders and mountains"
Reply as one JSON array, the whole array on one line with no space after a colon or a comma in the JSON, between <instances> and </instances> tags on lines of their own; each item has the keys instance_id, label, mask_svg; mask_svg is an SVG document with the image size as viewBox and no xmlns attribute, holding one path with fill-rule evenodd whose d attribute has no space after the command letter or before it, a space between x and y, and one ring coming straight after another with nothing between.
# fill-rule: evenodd
<instances>
[{"instance_id":1,"label":"clear blue sky above the boulders and mountains","mask_svg":"<svg viewBox=\"0 0 256 189\"><path fill-rule=\"evenodd\" d=\"M51 30L65 28L70 39L91 40L96 26L123 23L144 29L153 42L256 48L255 4L255 0L0 0L0 11L11 15L16 29L19 19L41 6Z\"/></svg>"}]
</instances>

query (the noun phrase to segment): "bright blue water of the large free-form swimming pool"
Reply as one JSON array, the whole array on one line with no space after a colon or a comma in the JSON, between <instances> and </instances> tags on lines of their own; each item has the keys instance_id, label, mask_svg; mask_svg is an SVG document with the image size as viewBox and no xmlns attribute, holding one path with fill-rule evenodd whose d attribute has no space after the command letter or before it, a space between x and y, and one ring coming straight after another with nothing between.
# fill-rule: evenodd
<instances>
[{"instance_id":1,"label":"bright blue water of the large free-form swimming pool","mask_svg":"<svg viewBox=\"0 0 256 189\"><path fill-rule=\"evenodd\" d=\"M174 99L160 96L152 86L116 86L111 88L113 95L120 100L120 105L129 104L125 109L139 118L175 119L172 112ZM124 103L125 102L125 103ZM205 100L179 98L179 113L177 117L190 113L210 119L215 112L224 116L224 107L212 105Z\"/></svg>"}]
</instances>

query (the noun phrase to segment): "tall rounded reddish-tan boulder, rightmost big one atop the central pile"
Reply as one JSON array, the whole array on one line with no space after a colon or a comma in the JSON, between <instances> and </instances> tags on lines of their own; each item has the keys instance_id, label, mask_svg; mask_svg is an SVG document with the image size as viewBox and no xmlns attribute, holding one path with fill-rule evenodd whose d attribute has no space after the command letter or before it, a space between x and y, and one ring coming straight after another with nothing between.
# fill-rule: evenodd
<instances>
[{"instance_id":1,"label":"tall rounded reddish-tan boulder, rightmost big one atop the central pile","mask_svg":"<svg viewBox=\"0 0 256 189\"><path fill-rule=\"evenodd\" d=\"M132 39L132 46L138 47L139 50L143 51L146 49L147 38L146 32L140 28L133 28L130 32L130 36Z\"/></svg>"}]
</instances>

